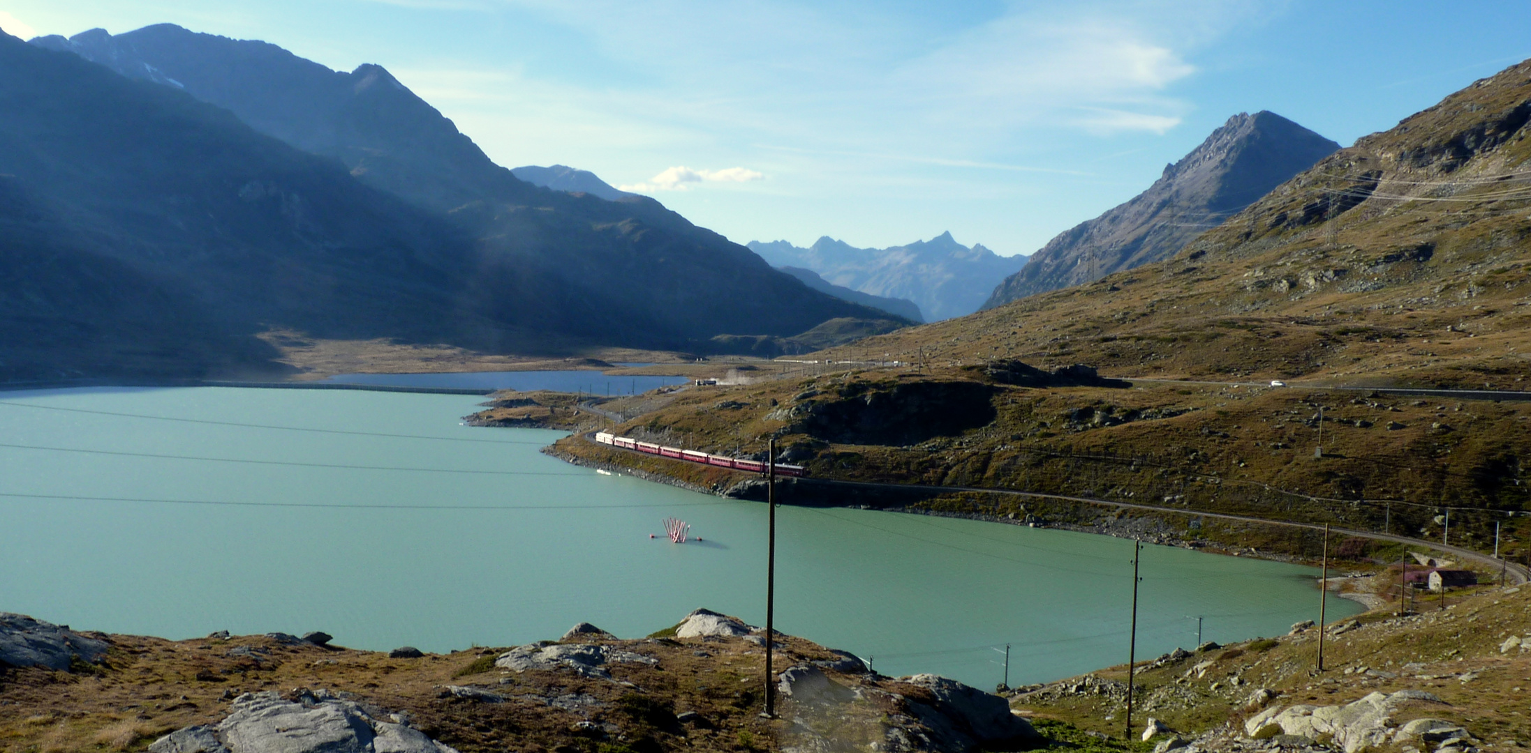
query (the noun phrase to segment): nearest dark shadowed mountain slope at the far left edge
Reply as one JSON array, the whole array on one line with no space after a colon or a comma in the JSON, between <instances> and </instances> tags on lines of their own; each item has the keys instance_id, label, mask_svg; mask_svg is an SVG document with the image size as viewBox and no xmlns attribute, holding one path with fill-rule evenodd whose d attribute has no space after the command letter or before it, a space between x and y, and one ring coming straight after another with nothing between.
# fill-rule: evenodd
<instances>
[{"instance_id":1,"label":"nearest dark shadowed mountain slope at the far left edge","mask_svg":"<svg viewBox=\"0 0 1531 753\"><path fill-rule=\"evenodd\" d=\"M254 367L268 324L447 337L475 266L329 159L3 34L0 225L9 378Z\"/></svg>"}]
</instances>

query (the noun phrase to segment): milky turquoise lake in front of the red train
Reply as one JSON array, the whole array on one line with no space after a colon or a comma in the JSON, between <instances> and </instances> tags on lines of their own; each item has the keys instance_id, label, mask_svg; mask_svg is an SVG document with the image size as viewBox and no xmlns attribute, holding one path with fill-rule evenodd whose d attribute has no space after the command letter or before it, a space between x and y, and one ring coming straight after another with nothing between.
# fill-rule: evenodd
<instances>
[{"instance_id":1,"label":"milky turquoise lake in front of the red train","mask_svg":"<svg viewBox=\"0 0 1531 753\"><path fill-rule=\"evenodd\" d=\"M430 652L766 617L766 505L568 465L481 398L352 390L0 393L0 611L190 638L325 631ZM663 519L700 542L664 539ZM651 537L652 536L652 537ZM978 687L1127 660L1133 542L778 510L776 624L879 672ZM1145 546L1138 657L1318 617L1312 568ZM1330 618L1360 612L1330 598Z\"/></svg>"}]
</instances>

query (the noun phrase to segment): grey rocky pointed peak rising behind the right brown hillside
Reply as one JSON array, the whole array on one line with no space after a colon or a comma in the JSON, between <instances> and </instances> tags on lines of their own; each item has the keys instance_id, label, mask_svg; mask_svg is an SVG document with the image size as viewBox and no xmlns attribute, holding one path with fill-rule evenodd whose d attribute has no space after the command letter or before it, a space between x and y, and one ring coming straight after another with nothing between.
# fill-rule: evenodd
<instances>
[{"instance_id":1,"label":"grey rocky pointed peak rising behind the right brown hillside","mask_svg":"<svg viewBox=\"0 0 1531 753\"><path fill-rule=\"evenodd\" d=\"M983 306L1168 259L1338 148L1272 112L1234 115L1190 155L1167 165L1148 190L1049 240Z\"/></svg>"}]
</instances>

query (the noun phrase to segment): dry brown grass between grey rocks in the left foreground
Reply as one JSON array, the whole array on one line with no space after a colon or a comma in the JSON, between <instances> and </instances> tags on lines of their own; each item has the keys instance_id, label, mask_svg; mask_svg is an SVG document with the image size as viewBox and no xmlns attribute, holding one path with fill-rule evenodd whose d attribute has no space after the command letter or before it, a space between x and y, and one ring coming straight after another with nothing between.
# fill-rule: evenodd
<instances>
[{"instance_id":1,"label":"dry brown grass between grey rocks in the left foreground","mask_svg":"<svg viewBox=\"0 0 1531 753\"><path fill-rule=\"evenodd\" d=\"M43 669L0 672L0 750L6 753L142 750L156 736L216 724L242 692L297 689L355 693L387 712L407 712L412 724L462 753L643 750L779 750L790 724L759 718L764 654L743 638L589 638L658 660L655 666L614 663L612 680L571 670L511 672L493 666L505 649L470 649L418 660L351 649L288 646L259 635L230 640L167 641L132 635L112 643L107 664L95 675ZM836 660L822 646L778 637L776 669ZM268 652L263 660L230 657L236 646ZM859 675L830 672L841 683ZM442 698L442 686L467 684L499 693L504 702ZM873 686L920 698L925 690L886 678ZM551 706L556 698L585 696L577 709ZM859 735L880 733L888 713L908 713L868 701L853 712ZM678 722L697 712L703 722ZM579 721L612 724L609 738L582 732ZM847 724L847 719L821 719Z\"/></svg>"}]
</instances>

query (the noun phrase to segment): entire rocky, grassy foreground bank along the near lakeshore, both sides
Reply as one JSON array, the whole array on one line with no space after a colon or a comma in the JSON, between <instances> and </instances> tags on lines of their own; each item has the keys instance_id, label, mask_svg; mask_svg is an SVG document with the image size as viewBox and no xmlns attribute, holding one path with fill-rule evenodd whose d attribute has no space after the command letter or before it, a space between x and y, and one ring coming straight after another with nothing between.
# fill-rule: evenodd
<instances>
[{"instance_id":1,"label":"entire rocky, grassy foreground bank along the near lakeshore, both sides","mask_svg":"<svg viewBox=\"0 0 1531 753\"><path fill-rule=\"evenodd\" d=\"M1485 586L1003 695L890 678L700 609L622 640L366 652L314 632L170 641L0 615L0 750L153 753L1474 753L1531 742L1531 589ZM1024 661L1024 658L1021 657ZM1130 732L1130 736L1127 735Z\"/></svg>"}]
</instances>

